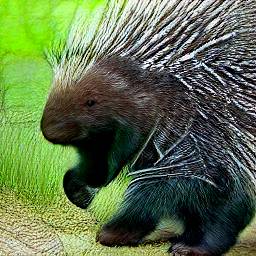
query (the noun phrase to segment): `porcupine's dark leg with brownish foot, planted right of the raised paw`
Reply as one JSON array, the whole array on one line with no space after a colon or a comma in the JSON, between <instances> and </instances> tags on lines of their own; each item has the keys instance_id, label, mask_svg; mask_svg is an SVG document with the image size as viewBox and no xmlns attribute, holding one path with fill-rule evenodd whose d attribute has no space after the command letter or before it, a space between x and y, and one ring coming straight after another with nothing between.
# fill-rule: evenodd
<instances>
[{"instance_id":1,"label":"porcupine's dark leg with brownish foot, planted right of the raised paw","mask_svg":"<svg viewBox=\"0 0 256 256\"><path fill-rule=\"evenodd\" d=\"M161 186L133 185L126 191L119 211L105 224L97 241L107 246L137 245L151 233L161 216Z\"/></svg>"}]
</instances>

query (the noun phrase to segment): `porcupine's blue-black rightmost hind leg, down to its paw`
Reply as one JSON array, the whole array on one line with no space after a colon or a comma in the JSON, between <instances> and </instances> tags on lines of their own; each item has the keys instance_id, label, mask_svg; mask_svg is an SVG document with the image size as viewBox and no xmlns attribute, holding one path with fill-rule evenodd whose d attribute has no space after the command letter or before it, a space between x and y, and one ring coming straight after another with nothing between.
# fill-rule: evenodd
<instances>
[{"instance_id":1,"label":"porcupine's blue-black rightmost hind leg, down to its paw","mask_svg":"<svg viewBox=\"0 0 256 256\"><path fill-rule=\"evenodd\" d=\"M239 233L252 220L255 207L250 195L242 187L224 188L224 184L219 183L223 185L222 191L205 186L204 195L208 197L208 205L202 201L201 205L191 207L191 201L187 203L187 208L181 209L185 231L171 241L172 255L220 256L236 243ZM190 185L190 189L193 185ZM196 193L195 189L194 195ZM196 197L200 198L200 195ZM195 197L191 198L194 200Z\"/></svg>"}]
</instances>

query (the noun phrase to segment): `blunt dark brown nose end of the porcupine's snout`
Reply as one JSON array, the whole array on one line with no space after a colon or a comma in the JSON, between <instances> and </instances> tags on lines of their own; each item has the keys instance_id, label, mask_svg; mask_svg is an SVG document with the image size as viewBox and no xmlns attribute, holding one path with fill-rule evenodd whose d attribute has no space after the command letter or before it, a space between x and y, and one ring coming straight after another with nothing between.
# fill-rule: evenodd
<instances>
[{"instance_id":1,"label":"blunt dark brown nose end of the porcupine's snout","mask_svg":"<svg viewBox=\"0 0 256 256\"><path fill-rule=\"evenodd\" d=\"M54 144L70 144L79 135L75 120L44 113L41 119L43 136Z\"/></svg>"}]
</instances>

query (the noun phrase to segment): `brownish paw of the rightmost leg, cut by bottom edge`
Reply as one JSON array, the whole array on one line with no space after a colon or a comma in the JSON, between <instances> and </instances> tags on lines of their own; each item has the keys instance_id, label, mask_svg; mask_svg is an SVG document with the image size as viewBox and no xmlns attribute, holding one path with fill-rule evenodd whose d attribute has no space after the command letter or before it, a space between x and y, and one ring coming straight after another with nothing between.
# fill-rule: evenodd
<instances>
[{"instance_id":1,"label":"brownish paw of the rightmost leg, cut by bottom edge","mask_svg":"<svg viewBox=\"0 0 256 256\"><path fill-rule=\"evenodd\" d=\"M174 244L169 252L172 256L217 256L207 252L199 246L187 246L182 243Z\"/></svg>"}]
</instances>

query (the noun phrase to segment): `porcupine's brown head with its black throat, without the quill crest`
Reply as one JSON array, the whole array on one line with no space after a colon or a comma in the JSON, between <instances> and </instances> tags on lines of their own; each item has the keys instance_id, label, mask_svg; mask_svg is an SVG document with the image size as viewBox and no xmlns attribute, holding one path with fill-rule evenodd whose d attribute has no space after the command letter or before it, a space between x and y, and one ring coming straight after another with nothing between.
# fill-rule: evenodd
<instances>
[{"instance_id":1,"label":"porcupine's brown head with its black throat, without the quill crest","mask_svg":"<svg viewBox=\"0 0 256 256\"><path fill-rule=\"evenodd\" d=\"M171 95L170 89L166 94L161 88L166 79L128 58L97 60L79 81L64 86L55 82L42 132L52 143L77 148L80 182L93 188L107 185L131 163L160 118L169 114L167 104L180 96L177 88Z\"/></svg>"}]
</instances>

